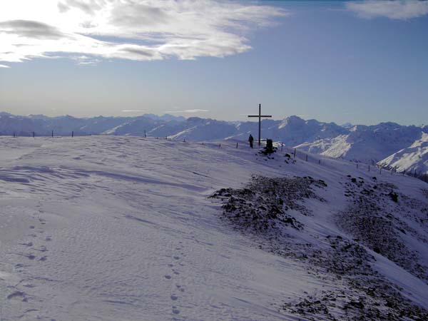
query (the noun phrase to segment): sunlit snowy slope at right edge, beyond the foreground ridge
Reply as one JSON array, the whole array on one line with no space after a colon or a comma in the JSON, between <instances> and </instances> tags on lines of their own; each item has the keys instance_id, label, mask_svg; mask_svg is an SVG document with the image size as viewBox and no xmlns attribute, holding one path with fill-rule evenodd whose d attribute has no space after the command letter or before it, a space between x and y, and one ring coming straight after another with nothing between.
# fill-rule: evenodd
<instances>
[{"instance_id":1,"label":"sunlit snowy slope at right edge, beyond the foreground ridge","mask_svg":"<svg viewBox=\"0 0 428 321\"><path fill-rule=\"evenodd\" d=\"M386 168L395 168L398 172L428 174L428 134L412 143L411 146L393 153L391 156L379 162Z\"/></svg>"}]
</instances>

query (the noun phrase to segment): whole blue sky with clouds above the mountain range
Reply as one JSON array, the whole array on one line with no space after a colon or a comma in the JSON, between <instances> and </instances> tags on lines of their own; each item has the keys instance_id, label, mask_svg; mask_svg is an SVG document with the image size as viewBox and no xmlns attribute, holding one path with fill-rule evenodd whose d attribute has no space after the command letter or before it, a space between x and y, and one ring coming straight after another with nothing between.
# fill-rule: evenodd
<instances>
[{"instance_id":1,"label":"whole blue sky with clouds above the mountain range","mask_svg":"<svg viewBox=\"0 0 428 321\"><path fill-rule=\"evenodd\" d=\"M259 103L428 123L428 1L0 1L0 111L245 121Z\"/></svg>"}]
</instances>

